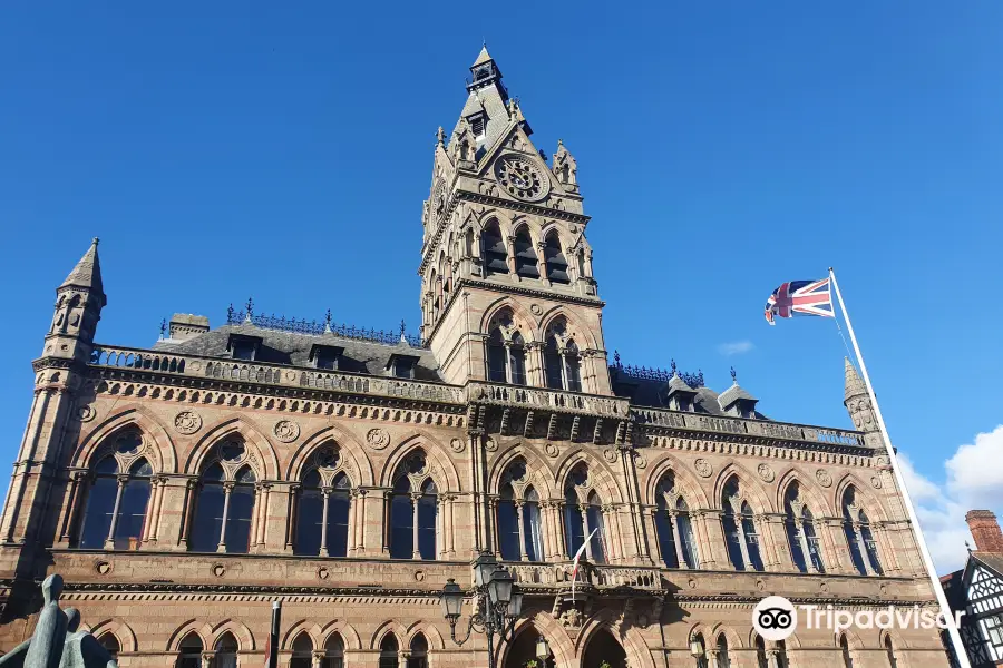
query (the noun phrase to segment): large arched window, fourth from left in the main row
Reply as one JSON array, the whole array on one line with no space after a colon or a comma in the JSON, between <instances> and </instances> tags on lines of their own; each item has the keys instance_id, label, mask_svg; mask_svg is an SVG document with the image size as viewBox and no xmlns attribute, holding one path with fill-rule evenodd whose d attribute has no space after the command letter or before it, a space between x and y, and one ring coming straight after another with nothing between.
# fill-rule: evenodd
<instances>
[{"instance_id":1,"label":"large arched window, fourth from left in the main row","mask_svg":"<svg viewBox=\"0 0 1003 668\"><path fill-rule=\"evenodd\" d=\"M421 451L398 466L390 495L390 558L436 558L438 489Z\"/></svg>"}]
</instances>

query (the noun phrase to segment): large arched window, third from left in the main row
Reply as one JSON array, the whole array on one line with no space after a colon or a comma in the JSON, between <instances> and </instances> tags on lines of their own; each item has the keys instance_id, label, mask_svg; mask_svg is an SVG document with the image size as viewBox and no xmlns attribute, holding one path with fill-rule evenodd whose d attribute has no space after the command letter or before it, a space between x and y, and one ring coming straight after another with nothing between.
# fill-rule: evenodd
<instances>
[{"instance_id":1,"label":"large arched window, third from left in the main row","mask_svg":"<svg viewBox=\"0 0 1003 668\"><path fill-rule=\"evenodd\" d=\"M294 553L306 557L345 557L351 510L351 481L340 471L337 448L320 449L303 475L296 508ZM324 481L330 481L328 484Z\"/></svg>"}]
</instances>

